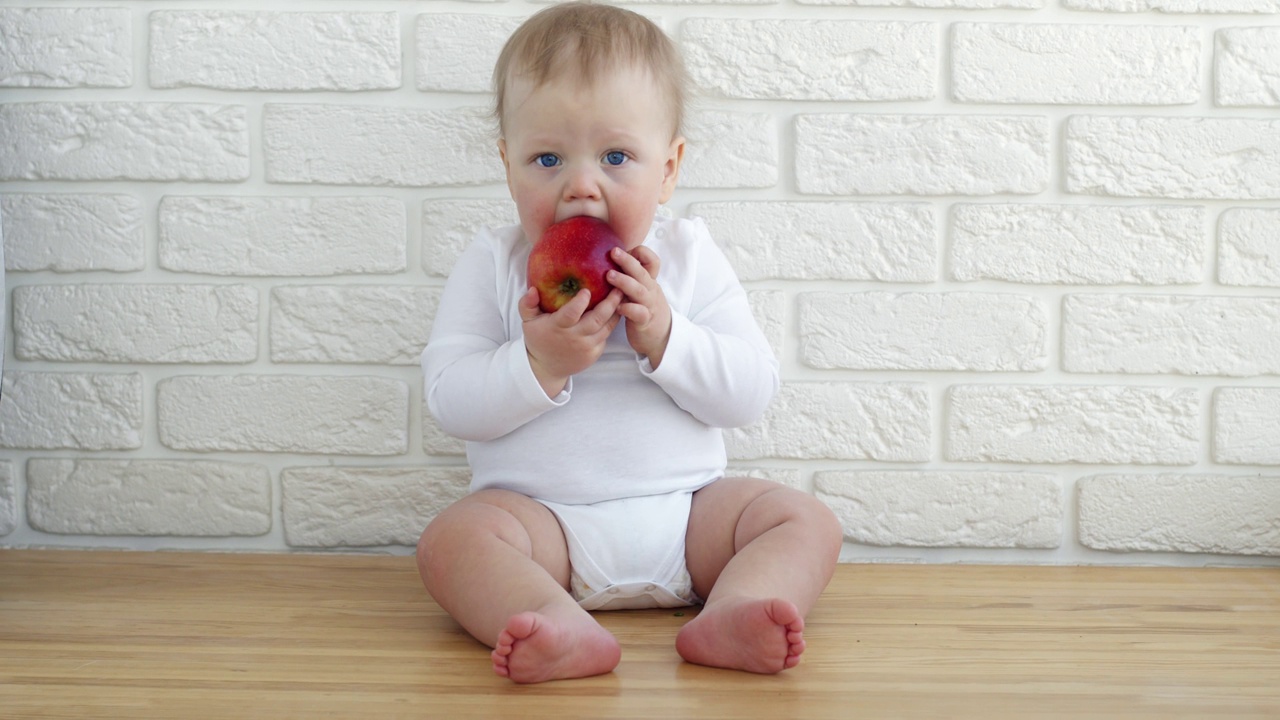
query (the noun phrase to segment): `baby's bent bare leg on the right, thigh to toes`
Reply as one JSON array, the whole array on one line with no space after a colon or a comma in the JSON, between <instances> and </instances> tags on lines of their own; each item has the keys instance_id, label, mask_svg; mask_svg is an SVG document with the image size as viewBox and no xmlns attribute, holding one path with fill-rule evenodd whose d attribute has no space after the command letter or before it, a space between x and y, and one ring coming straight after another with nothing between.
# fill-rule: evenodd
<instances>
[{"instance_id":1,"label":"baby's bent bare leg on the right, thigh to toes","mask_svg":"<svg viewBox=\"0 0 1280 720\"><path fill-rule=\"evenodd\" d=\"M831 582L842 532L812 495L718 480L694 495L686 561L703 611L676 637L699 665L780 673L800 664L804 618Z\"/></svg>"}]
</instances>

